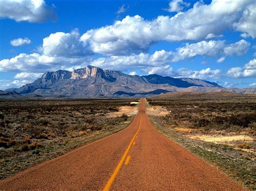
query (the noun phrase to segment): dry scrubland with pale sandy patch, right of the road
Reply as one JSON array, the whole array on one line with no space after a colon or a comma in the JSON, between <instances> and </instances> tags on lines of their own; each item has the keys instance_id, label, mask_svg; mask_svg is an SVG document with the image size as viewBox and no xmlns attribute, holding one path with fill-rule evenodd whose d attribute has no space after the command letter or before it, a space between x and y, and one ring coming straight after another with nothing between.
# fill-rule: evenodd
<instances>
[{"instance_id":1,"label":"dry scrubland with pale sandy patch, right of the road","mask_svg":"<svg viewBox=\"0 0 256 191\"><path fill-rule=\"evenodd\" d=\"M159 131L247 188L256 189L255 95L180 94L147 101L169 111L167 116L150 116Z\"/></svg>"}]
</instances>

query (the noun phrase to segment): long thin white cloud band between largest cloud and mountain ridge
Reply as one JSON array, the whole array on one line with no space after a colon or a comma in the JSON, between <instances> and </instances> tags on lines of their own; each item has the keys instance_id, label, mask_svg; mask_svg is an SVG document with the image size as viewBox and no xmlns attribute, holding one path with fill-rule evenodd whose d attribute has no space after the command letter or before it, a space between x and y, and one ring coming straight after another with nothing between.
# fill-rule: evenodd
<instances>
[{"instance_id":1,"label":"long thin white cloud band between largest cloud and mountain ridge","mask_svg":"<svg viewBox=\"0 0 256 191\"><path fill-rule=\"evenodd\" d=\"M163 66L169 64L171 62L178 62L180 60L186 60L198 55L205 56L217 56L223 55L224 49L226 47L232 47L228 51L228 54L237 53L236 51L239 49L240 52L245 53L250 46L250 43L247 43L245 40L241 40L242 44L245 46L240 46L240 41L238 43L225 45L225 41L200 41L194 44L186 44L184 47L180 47L176 49L176 52L172 51L156 51L153 54L140 53L140 54L132 54L132 55L119 55L119 56L109 56L108 58L99 58L91 62L91 65L95 65L103 68L111 68L111 69L120 69L123 70L128 66ZM239 46L237 48L236 46ZM240 53L239 53L240 55ZM223 57L224 58L224 57ZM223 58L219 59L220 61L224 61ZM225 58L224 58L225 59Z\"/></svg>"}]
</instances>

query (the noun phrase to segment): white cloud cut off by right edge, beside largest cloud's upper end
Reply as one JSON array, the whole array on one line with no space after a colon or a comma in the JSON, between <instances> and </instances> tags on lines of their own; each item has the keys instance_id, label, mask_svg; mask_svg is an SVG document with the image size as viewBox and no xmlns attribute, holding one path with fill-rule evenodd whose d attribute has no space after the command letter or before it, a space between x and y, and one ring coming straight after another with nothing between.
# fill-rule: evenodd
<instances>
[{"instance_id":1,"label":"white cloud cut off by right edge, beside largest cloud's upper end","mask_svg":"<svg viewBox=\"0 0 256 191\"><path fill-rule=\"evenodd\" d=\"M242 12L242 17L240 18L238 23L234 23L235 29L238 31L242 31L244 33L241 34L242 37L256 37L256 6L254 4L247 7Z\"/></svg>"}]
</instances>

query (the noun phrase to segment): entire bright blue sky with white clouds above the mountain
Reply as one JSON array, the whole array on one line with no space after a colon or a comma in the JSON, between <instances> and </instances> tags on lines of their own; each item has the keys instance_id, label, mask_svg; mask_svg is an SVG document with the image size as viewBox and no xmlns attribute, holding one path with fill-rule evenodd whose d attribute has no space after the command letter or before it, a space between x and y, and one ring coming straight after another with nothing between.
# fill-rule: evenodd
<instances>
[{"instance_id":1,"label":"entire bright blue sky with white clouds above the mountain","mask_svg":"<svg viewBox=\"0 0 256 191\"><path fill-rule=\"evenodd\" d=\"M252 0L0 0L0 6L2 90L86 65L256 87Z\"/></svg>"}]
</instances>

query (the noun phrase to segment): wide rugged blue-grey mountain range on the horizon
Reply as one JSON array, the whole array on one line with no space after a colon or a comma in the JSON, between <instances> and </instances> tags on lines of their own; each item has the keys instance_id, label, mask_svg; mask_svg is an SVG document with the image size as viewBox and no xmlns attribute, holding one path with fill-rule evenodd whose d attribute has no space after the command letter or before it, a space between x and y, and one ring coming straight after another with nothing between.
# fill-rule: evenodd
<instances>
[{"instance_id":1,"label":"wide rugged blue-grey mountain range on the horizon","mask_svg":"<svg viewBox=\"0 0 256 191\"><path fill-rule=\"evenodd\" d=\"M199 79L173 78L157 74L138 76L127 75L94 66L75 69L73 72L57 70L46 72L33 83L15 89L19 94L43 96L83 97L127 97L156 95L179 91L179 88L221 88L217 83Z\"/></svg>"}]
</instances>

